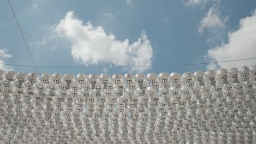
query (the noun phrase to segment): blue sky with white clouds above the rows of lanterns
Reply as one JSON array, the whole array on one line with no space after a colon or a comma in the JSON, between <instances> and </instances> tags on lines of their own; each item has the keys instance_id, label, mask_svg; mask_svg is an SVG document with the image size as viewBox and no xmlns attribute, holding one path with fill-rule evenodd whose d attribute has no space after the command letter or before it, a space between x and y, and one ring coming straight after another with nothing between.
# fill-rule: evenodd
<instances>
[{"instance_id":1,"label":"blue sky with white clouds above the rows of lanterns","mask_svg":"<svg viewBox=\"0 0 256 144\"><path fill-rule=\"evenodd\" d=\"M37 66L165 65L252 58L256 2L10 1ZM0 62L33 65L11 13L0 2ZM255 38L254 38L255 37ZM256 60L182 67L38 68L39 73L172 73L255 65ZM34 68L0 69L26 71Z\"/></svg>"}]
</instances>

